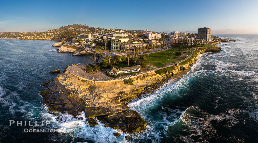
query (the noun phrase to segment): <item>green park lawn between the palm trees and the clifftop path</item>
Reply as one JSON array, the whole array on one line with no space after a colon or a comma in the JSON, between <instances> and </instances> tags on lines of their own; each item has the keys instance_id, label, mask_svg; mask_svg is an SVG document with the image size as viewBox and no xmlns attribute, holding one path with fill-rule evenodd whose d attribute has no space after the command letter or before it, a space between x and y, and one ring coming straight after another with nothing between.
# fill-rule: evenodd
<instances>
[{"instance_id":1,"label":"green park lawn between the palm trees and the clifftop path","mask_svg":"<svg viewBox=\"0 0 258 143\"><path fill-rule=\"evenodd\" d=\"M178 48L172 48L166 51L151 53L149 55L149 65L155 66L155 67L162 67L166 64L175 63L176 61L181 61L184 58L178 59L178 57L175 56L176 51L179 51ZM192 51L192 50L191 50ZM181 51L182 54L190 55L191 51ZM148 58L148 54L145 55Z\"/></svg>"}]
</instances>

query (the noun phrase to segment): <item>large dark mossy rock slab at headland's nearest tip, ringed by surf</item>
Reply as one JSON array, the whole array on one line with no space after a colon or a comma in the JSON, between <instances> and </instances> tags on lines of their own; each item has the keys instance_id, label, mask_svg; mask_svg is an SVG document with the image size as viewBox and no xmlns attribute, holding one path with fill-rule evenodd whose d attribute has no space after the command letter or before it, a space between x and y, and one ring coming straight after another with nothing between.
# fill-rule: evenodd
<instances>
[{"instance_id":1,"label":"large dark mossy rock slab at headland's nearest tip, ringed by surf","mask_svg":"<svg viewBox=\"0 0 258 143\"><path fill-rule=\"evenodd\" d=\"M114 129L121 129L126 133L139 133L146 128L147 122L134 110L127 110L105 117Z\"/></svg>"}]
</instances>

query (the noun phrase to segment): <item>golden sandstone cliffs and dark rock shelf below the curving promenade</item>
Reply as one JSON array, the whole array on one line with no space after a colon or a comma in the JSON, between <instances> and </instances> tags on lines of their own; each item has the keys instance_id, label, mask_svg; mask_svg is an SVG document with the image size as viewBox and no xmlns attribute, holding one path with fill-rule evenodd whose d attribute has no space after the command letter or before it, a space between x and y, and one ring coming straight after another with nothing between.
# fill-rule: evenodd
<instances>
[{"instance_id":1,"label":"golden sandstone cliffs and dark rock shelf below the curving promenade","mask_svg":"<svg viewBox=\"0 0 258 143\"><path fill-rule=\"evenodd\" d=\"M125 85L123 81L85 81L65 70L42 84L44 88L41 95L49 112L57 119L61 118L59 112L67 112L81 119L77 115L83 111L90 126L102 122L105 127L120 129L126 133L139 133L145 130L147 122L138 112L129 110L127 104L134 99L148 96L176 74L188 70L203 52L218 51L221 51L220 47L198 48L197 54L187 64L175 66L173 71L162 75L152 72L132 78L133 85Z\"/></svg>"}]
</instances>

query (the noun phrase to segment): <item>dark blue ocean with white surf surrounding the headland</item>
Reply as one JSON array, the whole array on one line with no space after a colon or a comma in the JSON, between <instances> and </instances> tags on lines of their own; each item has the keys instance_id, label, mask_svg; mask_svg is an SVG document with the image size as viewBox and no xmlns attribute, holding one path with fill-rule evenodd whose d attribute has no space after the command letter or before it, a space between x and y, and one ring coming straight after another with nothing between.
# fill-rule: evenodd
<instances>
[{"instance_id":1,"label":"dark blue ocean with white surf surrounding the headland","mask_svg":"<svg viewBox=\"0 0 258 143\"><path fill-rule=\"evenodd\" d=\"M258 139L258 35L216 35L237 40L218 44L221 52L206 52L179 81L131 102L148 122L145 131L126 134L102 123L49 114L39 95L42 82L90 56L58 53L54 41L0 39L0 142L254 142ZM10 120L15 124L9 126ZM16 122L42 122L17 126ZM49 121L49 125L45 122ZM29 133L25 129L56 129L59 133ZM121 135L115 137L114 132ZM131 136L127 140L124 136Z\"/></svg>"}]
</instances>

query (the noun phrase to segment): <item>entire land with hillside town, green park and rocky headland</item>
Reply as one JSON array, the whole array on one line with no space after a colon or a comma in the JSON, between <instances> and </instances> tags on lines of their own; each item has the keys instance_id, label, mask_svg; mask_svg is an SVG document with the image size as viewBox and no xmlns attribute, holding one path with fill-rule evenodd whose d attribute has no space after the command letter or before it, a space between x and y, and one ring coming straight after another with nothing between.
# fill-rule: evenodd
<instances>
[{"instance_id":1,"label":"entire land with hillside town, green park and rocky headland","mask_svg":"<svg viewBox=\"0 0 258 143\"><path fill-rule=\"evenodd\" d=\"M43 82L40 95L48 112L56 118L67 112L81 120L78 114L83 111L89 126L102 122L104 127L132 134L144 131L147 122L138 112L128 110L129 102L180 80L199 55L219 52L221 48L215 45L230 41L212 35L208 27L197 28L197 33L162 33L148 28L122 30L75 24L42 33L0 34L1 38L54 40L58 41L53 44L58 52L89 56L90 63L68 65L63 73ZM53 69L49 74L59 72Z\"/></svg>"}]
</instances>

